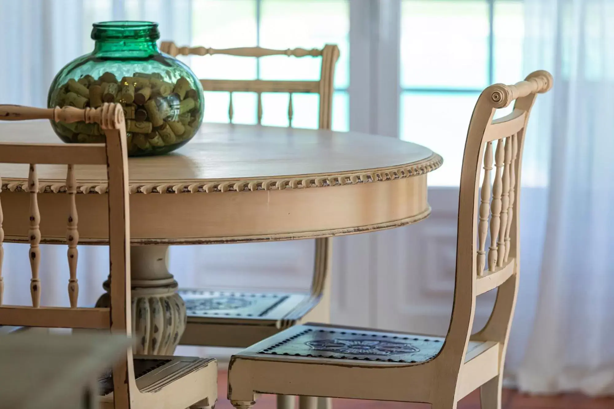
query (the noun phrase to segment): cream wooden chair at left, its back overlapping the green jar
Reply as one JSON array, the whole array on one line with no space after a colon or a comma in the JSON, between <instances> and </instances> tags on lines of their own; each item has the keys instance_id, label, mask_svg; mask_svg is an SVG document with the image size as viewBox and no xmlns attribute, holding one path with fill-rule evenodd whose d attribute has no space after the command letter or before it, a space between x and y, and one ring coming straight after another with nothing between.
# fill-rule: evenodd
<instances>
[{"instance_id":1,"label":"cream wooden chair at left, its back overlapping the green jar","mask_svg":"<svg viewBox=\"0 0 614 409\"><path fill-rule=\"evenodd\" d=\"M2 305L0 279L0 325L25 327L62 327L106 329L130 336L130 214L128 207L128 159L123 110L119 104L103 104L97 109L56 107L38 109L0 106L0 119L50 119L63 122L98 123L106 136L106 144L20 144L0 142L0 163L29 164L29 260L32 270L30 292L32 306ZM1 127L0 127L1 130ZM39 279L41 252L41 211L37 201L39 184L36 164L67 163L66 173L66 244L68 244L68 299L70 307L41 306L42 282ZM109 201L109 261L111 271L110 308L79 308L77 271L77 203L75 166L106 165ZM0 181L0 187L2 183ZM45 193L41 193L45 194ZM1 197L2 195L0 195ZM0 204L1 209L1 204ZM42 214L50 209L42 209ZM9 217L9 216L5 216ZM0 211L0 266L2 260L2 212ZM44 227L44 225L43 225ZM56 238L55 238L56 239ZM57 240L57 239L56 239ZM20 273L23 273L21 271ZM7 335L11 336L11 335ZM198 403L212 407L217 399L217 364L214 359L173 356L133 356L126 351L100 380L101 407L177 408Z\"/></svg>"}]
</instances>

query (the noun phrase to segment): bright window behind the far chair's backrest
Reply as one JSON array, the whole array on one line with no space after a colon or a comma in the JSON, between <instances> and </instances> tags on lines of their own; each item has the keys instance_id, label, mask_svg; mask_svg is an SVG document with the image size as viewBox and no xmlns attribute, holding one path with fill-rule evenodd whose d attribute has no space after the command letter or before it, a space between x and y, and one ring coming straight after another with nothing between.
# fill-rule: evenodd
<instances>
[{"instance_id":1,"label":"bright window behind the far chair's backrest","mask_svg":"<svg viewBox=\"0 0 614 409\"><path fill-rule=\"evenodd\" d=\"M231 17L230 17L231 16ZM349 71L349 6L345 0L204 0L193 2L192 44L229 48L260 46L271 49L321 48L338 44L341 57L335 72L333 130L347 131ZM284 35L280 35L284 33ZM196 76L219 79L317 80L320 58L268 56L246 58L216 55L193 57ZM224 92L206 93L206 122L228 122ZM288 126L289 95L262 94L262 124ZM317 128L317 95L294 94L292 125ZM256 123L255 93L233 93L236 123Z\"/></svg>"}]
</instances>

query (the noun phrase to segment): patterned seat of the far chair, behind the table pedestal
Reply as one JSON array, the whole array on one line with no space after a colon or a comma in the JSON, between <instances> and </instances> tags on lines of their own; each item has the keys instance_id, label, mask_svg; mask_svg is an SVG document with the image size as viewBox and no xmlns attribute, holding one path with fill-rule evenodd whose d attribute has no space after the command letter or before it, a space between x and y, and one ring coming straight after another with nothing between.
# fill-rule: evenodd
<instances>
[{"instance_id":1,"label":"patterned seat of the far chair, behind the table pedestal","mask_svg":"<svg viewBox=\"0 0 614 409\"><path fill-rule=\"evenodd\" d=\"M210 318L282 319L309 294L252 293L182 289L188 322ZM199 319L204 318L205 320Z\"/></svg>"}]
</instances>

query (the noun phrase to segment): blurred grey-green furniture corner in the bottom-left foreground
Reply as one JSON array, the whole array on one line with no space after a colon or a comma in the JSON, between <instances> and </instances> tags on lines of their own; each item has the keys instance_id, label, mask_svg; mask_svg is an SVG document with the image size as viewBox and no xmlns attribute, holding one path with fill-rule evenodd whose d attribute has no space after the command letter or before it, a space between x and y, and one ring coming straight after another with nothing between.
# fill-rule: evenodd
<instances>
[{"instance_id":1,"label":"blurred grey-green furniture corner in the bottom-left foreground","mask_svg":"<svg viewBox=\"0 0 614 409\"><path fill-rule=\"evenodd\" d=\"M0 409L98 406L98 376L130 348L125 335L0 335Z\"/></svg>"}]
</instances>

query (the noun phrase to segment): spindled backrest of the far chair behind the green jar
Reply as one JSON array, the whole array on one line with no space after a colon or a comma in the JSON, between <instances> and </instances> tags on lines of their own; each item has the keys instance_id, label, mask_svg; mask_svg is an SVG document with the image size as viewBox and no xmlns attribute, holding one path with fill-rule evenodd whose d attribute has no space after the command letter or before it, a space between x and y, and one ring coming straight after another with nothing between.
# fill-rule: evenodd
<instances>
[{"instance_id":1,"label":"spindled backrest of the far chair behind the green jar","mask_svg":"<svg viewBox=\"0 0 614 409\"><path fill-rule=\"evenodd\" d=\"M206 47L177 47L172 41L163 41L160 44L160 50L171 56L177 55L235 55L261 58L270 55L287 55L289 57L303 58L306 56L322 57L322 65L320 70L320 79L317 81L295 80L222 80L222 79L201 79L204 91L225 91L230 93L230 102L228 103L228 118L230 123L233 122L233 92L254 92L258 97L258 124L262 122L262 93L263 92L281 92L289 93L288 103L288 121L292 127L293 117L293 93L316 93L319 94L319 120L318 127L320 129L328 129L332 125L332 101L333 101L333 78L335 76L335 64L339 58L339 47L336 45L325 45L323 49L287 49L287 50L271 50L263 49L262 47L242 47L236 49L211 49Z\"/></svg>"}]
</instances>

